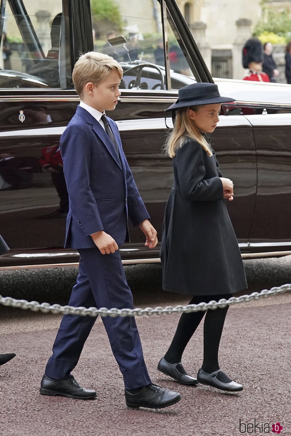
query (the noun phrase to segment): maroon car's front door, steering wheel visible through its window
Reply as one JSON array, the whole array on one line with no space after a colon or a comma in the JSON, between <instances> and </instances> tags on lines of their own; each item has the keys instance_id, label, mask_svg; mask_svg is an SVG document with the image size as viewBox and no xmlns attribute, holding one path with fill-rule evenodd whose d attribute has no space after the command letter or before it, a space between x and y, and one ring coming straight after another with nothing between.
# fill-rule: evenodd
<instances>
[{"instance_id":1,"label":"maroon car's front door, steering wheel visible through its window","mask_svg":"<svg viewBox=\"0 0 291 436\"><path fill-rule=\"evenodd\" d=\"M125 44L118 39L117 31L110 30L108 16L108 31L98 35L101 40L108 36L108 41L96 41L105 18L94 12L93 7L91 19L95 50L115 56L124 70L121 103L108 115L118 124L135 182L160 237L173 184L172 161L162 152L167 134L164 110L176 101L179 88L196 81L211 82L212 78L176 2L153 2L154 16L152 9L146 7L148 3L143 2L133 17L128 16L124 3L116 2L119 13L127 21L120 31L127 41ZM222 114L220 118L220 127L213 135L214 148L224 176L232 177L236 185L236 201L227 206L240 248L249 253L257 180L252 128L243 116ZM167 124L170 126L171 122L168 120ZM159 260L159 246L149 253L142 245L144 236L139 228L130 228L130 235L131 244L122 248L125 257L132 256L134 251L137 258Z\"/></svg>"}]
</instances>

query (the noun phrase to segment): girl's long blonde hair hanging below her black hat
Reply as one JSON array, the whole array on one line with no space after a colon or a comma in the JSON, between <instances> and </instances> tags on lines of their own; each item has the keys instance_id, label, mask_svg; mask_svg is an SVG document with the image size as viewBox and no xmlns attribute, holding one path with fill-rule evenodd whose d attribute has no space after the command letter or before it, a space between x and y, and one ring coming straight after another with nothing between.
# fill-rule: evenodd
<instances>
[{"instance_id":1,"label":"girl's long blonde hair hanging below her black hat","mask_svg":"<svg viewBox=\"0 0 291 436\"><path fill-rule=\"evenodd\" d=\"M164 146L164 151L169 157L176 156L177 149L183 145L183 142L187 138L191 138L200 143L208 156L213 155L210 144L206 141L205 136L203 136L203 134L194 126L194 123L188 115L188 109L197 112L202 107L203 106L188 106L176 111L174 128L166 138L166 144Z\"/></svg>"}]
</instances>

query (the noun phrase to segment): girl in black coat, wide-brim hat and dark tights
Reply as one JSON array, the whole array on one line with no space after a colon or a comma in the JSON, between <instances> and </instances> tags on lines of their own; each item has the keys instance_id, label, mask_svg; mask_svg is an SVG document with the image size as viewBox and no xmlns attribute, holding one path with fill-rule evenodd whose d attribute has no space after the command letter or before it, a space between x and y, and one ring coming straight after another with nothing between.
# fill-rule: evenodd
<instances>
[{"instance_id":1,"label":"girl in black coat, wide-brim hat and dark tights","mask_svg":"<svg viewBox=\"0 0 291 436\"><path fill-rule=\"evenodd\" d=\"M163 289L189 294L189 304L228 299L247 288L237 238L224 199L233 200L233 183L222 177L206 133L214 131L222 102L217 85L196 83L179 89L166 152L173 157L174 184L166 204L160 257ZM181 364L183 351L205 311L183 313L158 369L187 385L197 382L225 391L241 391L218 363L218 348L228 306L207 310L204 358L197 378Z\"/></svg>"}]
</instances>

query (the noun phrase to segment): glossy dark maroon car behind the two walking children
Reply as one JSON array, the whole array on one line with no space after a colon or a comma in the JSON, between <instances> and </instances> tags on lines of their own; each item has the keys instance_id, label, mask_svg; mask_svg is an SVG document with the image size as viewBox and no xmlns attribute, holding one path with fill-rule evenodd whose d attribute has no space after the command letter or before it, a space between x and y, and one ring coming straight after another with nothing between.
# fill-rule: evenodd
<instances>
[{"instance_id":1,"label":"glossy dark maroon car behind the two walking children","mask_svg":"<svg viewBox=\"0 0 291 436\"><path fill-rule=\"evenodd\" d=\"M158 236L173 183L164 109L182 86L214 81L237 100L222 107L211 140L234 183L227 207L242 256L291 253L290 85L213 79L174 0L141 0L133 12L116 0L107 14L93 0L51 0L50 10L34 3L0 1L0 38L10 36L0 45L0 233L11 249L0 269L78 262L63 249L68 193L58 147L79 102L72 68L89 50L124 70L121 102L108 116ZM139 229L130 236L124 263L159 262L159 246L145 249Z\"/></svg>"}]
</instances>

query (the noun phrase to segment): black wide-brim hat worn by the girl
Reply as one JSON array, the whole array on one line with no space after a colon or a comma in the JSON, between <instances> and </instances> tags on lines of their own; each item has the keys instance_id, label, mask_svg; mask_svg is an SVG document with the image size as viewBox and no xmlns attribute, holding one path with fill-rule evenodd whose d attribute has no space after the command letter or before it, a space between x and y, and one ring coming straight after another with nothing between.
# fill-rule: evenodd
<instances>
[{"instance_id":1,"label":"black wide-brim hat worn by the girl","mask_svg":"<svg viewBox=\"0 0 291 436\"><path fill-rule=\"evenodd\" d=\"M221 97L214 83L191 83L178 91L178 100L165 112L176 111L188 106L211 105L213 103L235 102L230 97Z\"/></svg>"}]
</instances>

